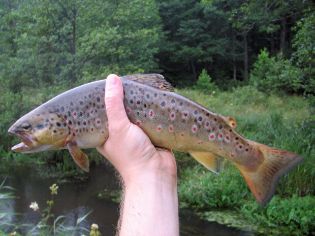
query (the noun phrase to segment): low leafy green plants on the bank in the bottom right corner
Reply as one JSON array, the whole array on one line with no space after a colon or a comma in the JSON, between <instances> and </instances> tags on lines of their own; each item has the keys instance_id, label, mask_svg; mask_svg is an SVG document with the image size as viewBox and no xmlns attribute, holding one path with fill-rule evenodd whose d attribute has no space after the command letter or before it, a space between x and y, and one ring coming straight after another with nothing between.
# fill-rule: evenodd
<instances>
[{"instance_id":1,"label":"low leafy green plants on the bank in the bottom right corner","mask_svg":"<svg viewBox=\"0 0 315 236\"><path fill-rule=\"evenodd\" d=\"M257 203L247 203L241 213L262 228L280 230L273 235L315 235L315 198L307 195L280 198L275 196L265 208Z\"/></svg>"}]
</instances>

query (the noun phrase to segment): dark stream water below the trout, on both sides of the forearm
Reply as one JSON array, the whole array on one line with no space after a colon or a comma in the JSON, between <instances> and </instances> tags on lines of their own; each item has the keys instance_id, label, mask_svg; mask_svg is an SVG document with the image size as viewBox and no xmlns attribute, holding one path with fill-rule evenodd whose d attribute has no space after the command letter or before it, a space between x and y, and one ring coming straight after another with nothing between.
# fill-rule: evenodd
<instances>
[{"instance_id":1,"label":"dark stream water below the trout, on both sides of the forearm","mask_svg":"<svg viewBox=\"0 0 315 236\"><path fill-rule=\"evenodd\" d=\"M87 180L79 183L58 183L58 194L54 196L54 206L51 213L58 217L67 216L66 225L75 226L78 218L93 211L80 226L90 228L92 223L100 227L102 235L115 235L115 225L118 220L118 204L106 200L99 200L97 192L108 189L118 189L114 171L106 167L91 168L86 174ZM31 202L36 201L40 210L47 207L46 201L51 198L49 186L56 183L55 179L40 179L27 174L16 174L7 178L5 185L16 189L14 195L18 198L10 200L14 212L23 213L22 216L12 217L10 220L29 223L24 228L23 235L34 227L41 216L29 208ZM225 236L246 235L250 231L236 230L231 227L207 222L199 219L190 210L180 210L180 235ZM77 233L82 235L83 232ZM85 232L85 234L87 234Z\"/></svg>"}]
</instances>

